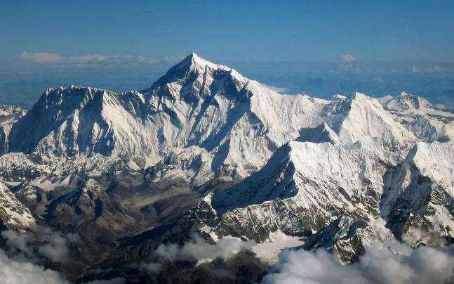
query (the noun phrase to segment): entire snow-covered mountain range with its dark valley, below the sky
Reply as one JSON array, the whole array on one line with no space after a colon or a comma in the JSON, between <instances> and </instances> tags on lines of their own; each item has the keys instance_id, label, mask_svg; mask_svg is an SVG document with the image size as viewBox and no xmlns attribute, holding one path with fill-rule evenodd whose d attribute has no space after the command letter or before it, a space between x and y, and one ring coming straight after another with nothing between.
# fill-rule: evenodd
<instances>
[{"instance_id":1,"label":"entire snow-covered mountain range with its dark valley, below the sky","mask_svg":"<svg viewBox=\"0 0 454 284\"><path fill-rule=\"evenodd\" d=\"M193 53L149 89L48 89L0 122L1 228L34 245L78 234L65 261L40 262L69 280L248 282L283 247L352 262L383 232L453 242L454 114L407 93L286 95ZM246 249L139 265L194 240Z\"/></svg>"}]
</instances>

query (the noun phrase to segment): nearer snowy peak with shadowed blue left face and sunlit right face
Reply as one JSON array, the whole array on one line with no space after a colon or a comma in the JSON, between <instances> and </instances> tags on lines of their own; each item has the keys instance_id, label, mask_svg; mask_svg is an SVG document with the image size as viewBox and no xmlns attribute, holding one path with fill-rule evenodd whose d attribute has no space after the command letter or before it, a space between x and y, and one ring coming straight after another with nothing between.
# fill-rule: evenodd
<instances>
[{"instance_id":1,"label":"nearer snowy peak with shadowed blue left face and sunlit right face","mask_svg":"<svg viewBox=\"0 0 454 284\"><path fill-rule=\"evenodd\" d=\"M222 216L217 230L255 238L278 228L318 231L340 212L369 218L378 212L385 170L373 151L290 141L259 172L213 195Z\"/></svg>"}]
</instances>

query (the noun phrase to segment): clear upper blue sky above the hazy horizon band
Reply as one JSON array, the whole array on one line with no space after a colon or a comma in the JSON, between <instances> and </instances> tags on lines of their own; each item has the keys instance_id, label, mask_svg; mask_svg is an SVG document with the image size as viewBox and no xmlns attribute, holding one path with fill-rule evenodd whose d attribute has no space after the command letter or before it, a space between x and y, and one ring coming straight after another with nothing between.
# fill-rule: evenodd
<instances>
[{"instance_id":1,"label":"clear upper blue sky above the hazy horizon band","mask_svg":"<svg viewBox=\"0 0 454 284\"><path fill-rule=\"evenodd\" d=\"M454 1L0 1L20 53L277 60L454 60Z\"/></svg>"}]
</instances>

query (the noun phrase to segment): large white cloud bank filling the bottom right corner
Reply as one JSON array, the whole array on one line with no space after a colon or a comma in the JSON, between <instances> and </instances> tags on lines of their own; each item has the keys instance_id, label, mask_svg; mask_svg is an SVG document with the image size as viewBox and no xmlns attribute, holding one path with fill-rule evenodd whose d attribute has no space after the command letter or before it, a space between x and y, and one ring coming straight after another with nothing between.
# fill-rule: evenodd
<instances>
[{"instance_id":1,"label":"large white cloud bank filling the bottom right corner","mask_svg":"<svg viewBox=\"0 0 454 284\"><path fill-rule=\"evenodd\" d=\"M408 252L408 253L406 253ZM325 250L286 250L262 284L273 283L453 283L454 246L419 247L402 245L399 252L369 248L354 264L340 264Z\"/></svg>"}]
</instances>

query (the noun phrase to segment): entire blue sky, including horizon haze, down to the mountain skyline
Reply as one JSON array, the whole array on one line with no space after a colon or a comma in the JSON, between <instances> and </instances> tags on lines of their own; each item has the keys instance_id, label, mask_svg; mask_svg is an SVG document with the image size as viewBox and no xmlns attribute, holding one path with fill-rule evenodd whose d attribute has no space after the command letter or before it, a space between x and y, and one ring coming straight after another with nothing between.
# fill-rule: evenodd
<instances>
[{"instance_id":1,"label":"entire blue sky, including horizon haze, down to the mountain skyline","mask_svg":"<svg viewBox=\"0 0 454 284\"><path fill-rule=\"evenodd\" d=\"M435 79L429 83L445 84L446 96L454 89L453 15L454 1L2 0L0 100L14 101L13 91L20 97L15 101L33 101L43 91L38 88L73 81L118 91L138 84L134 89L140 89L191 52L267 83L295 77L288 85L311 78L329 82L326 74L339 81L352 65L359 70L361 64L369 64L372 84L378 65L392 70L407 64L399 76L430 73L427 77ZM102 62L102 68L93 61ZM273 67L283 71L276 75ZM317 70L324 75L303 75ZM121 77L128 82L119 85ZM295 91L307 91L299 84ZM331 84L340 87L338 92L353 88ZM315 90L314 96L333 91Z\"/></svg>"}]
</instances>

